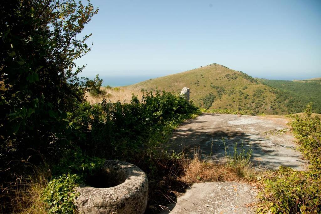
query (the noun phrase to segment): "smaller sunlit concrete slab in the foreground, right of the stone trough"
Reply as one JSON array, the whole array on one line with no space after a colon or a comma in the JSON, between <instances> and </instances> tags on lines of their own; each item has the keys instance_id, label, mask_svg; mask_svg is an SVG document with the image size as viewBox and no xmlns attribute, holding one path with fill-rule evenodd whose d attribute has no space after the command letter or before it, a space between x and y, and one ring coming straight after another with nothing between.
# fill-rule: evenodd
<instances>
[{"instance_id":1,"label":"smaller sunlit concrete slab in the foreground, right of the stone trough","mask_svg":"<svg viewBox=\"0 0 321 214\"><path fill-rule=\"evenodd\" d=\"M173 214L247 214L255 213L250 205L256 201L257 190L238 182L205 182L193 184L186 193L169 207Z\"/></svg>"}]
</instances>

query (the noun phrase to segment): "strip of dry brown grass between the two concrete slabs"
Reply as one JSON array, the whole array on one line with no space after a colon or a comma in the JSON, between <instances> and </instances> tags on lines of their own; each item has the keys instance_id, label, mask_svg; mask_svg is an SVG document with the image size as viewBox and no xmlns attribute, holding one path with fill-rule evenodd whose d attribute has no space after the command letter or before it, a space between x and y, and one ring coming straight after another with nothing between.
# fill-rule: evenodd
<instances>
[{"instance_id":1,"label":"strip of dry brown grass between the two concrete slabs","mask_svg":"<svg viewBox=\"0 0 321 214\"><path fill-rule=\"evenodd\" d=\"M212 164L199 160L195 155L193 159L176 159L174 162L160 160L157 166L163 174L150 180L150 201L148 212L168 210L169 204L175 203L177 197L184 194L186 188L194 183L237 181L256 183L257 173L250 163L245 161L232 161Z\"/></svg>"}]
</instances>

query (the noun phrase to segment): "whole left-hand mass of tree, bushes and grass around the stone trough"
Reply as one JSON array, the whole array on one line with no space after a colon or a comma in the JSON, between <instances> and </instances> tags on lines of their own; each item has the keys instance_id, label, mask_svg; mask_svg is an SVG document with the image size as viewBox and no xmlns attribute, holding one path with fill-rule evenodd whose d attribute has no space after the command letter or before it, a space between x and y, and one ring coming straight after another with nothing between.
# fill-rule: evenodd
<instances>
[{"instance_id":1,"label":"whole left-hand mass of tree, bushes and grass around the stone trough","mask_svg":"<svg viewBox=\"0 0 321 214\"><path fill-rule=\"evenodd\" d=\"M187 183L183 155L163 150L173 129L199 109L170 92L141 92L130 102L98 104L102 80L78 78L87 54L80 34L98 9L75 0L0 1L0 213L78 213L74 187L90 185L106 159L148 176L148 210ZM50 26L50 27L49 27ZM110 90L111 92L111 90Z\"/></svg>"}]
</instances>

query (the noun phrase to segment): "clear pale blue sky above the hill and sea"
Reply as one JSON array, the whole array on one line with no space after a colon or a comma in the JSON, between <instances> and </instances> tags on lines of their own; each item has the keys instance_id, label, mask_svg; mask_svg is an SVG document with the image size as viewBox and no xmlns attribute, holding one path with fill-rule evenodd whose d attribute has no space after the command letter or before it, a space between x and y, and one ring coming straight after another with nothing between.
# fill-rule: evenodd
<instances>
[{"instance_id":1,"label":"clear pale blue sky above the hill and sea","mask_svg":"<svg viewBox=\"0 0 321 214\"><path fill-rule=\"evenodd\" d=\"M253 77L321 76L321 1L92 0L82 75L163 76L218 63Z\"/></svg>"}]
</instances>

